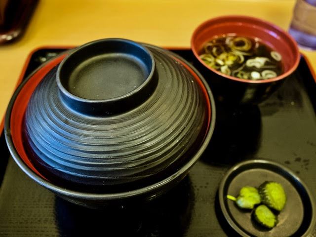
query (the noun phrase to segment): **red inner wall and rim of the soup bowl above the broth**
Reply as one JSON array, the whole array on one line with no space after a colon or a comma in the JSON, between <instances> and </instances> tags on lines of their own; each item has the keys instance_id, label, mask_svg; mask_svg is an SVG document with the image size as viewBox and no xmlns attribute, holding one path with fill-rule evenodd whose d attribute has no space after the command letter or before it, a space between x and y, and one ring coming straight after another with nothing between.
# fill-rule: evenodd
<instances>
[{"instance_id":1,"label":"red inner wall and rim of the soup bowl above the broth","mask_svg":"<svg viewBox=\"0 0 316 237\"><path fill-rule=\"evenodd\" d=\"M216 36L236 34L247 38L257 39L276 50L282 57L284 73L273 79L247 80L222 74L209 68L198 56L203 44ZM276 25L248 16L222 16L210 19L197 27L192 35L191 47L195 57L200 63L211 71L223 77L247 81L250 83L266 83L283 79L290 75L298 66L300 53L295 40Z\"/></svg>"}]
</instances>

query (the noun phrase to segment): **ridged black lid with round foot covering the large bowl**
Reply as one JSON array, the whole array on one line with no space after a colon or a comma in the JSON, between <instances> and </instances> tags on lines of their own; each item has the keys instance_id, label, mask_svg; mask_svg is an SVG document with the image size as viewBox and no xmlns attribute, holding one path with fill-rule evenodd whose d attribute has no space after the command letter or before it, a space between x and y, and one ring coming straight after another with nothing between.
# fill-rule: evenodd
<instances>
[{"instance_id":1,"label":"ridged black lid with round foot covering the large bowl","mask_svg":"<svg viewBox=\"0 0 316 237\"><path fill-rule=\"evenodd\" d=\"M82 76L80 67L92 71ZM115 73L104 75L109 71ZM131 90L116 89L135 74L138 84ZM97 86L73 90L80 83L76 79L87 83L89 75L100 76L91 78ZM110 83L110 90L116 90L112 95L98 99L92 94L102 94ZM97 40L71 52L34 90L25 114L26 148L36 168L57 183L128 190L131 184L167 177L195 155L209 125L208 100L197 79L167 50Z\"/></svg>"}]
</instances>

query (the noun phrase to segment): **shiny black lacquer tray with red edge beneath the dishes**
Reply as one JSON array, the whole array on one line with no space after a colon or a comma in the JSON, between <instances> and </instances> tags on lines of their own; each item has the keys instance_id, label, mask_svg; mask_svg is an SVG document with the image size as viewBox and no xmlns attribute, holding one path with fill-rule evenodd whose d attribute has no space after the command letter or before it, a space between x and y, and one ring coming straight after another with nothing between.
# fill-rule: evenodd
<instances>
[{"instance_id":1,"label":"shiny black lacquer tray with red edge beneath the dishes","mask_svg":"<svg viewBox=\"0 0 316 237\"><path fill-rule=\"evenodd\" d=\"M32 52L24 79L67 48ZM172 50L189 62L189 49ZM144 206L92 210L36 184L10 157L0 137L0 236L237 236L222 215L218 188L240 161L264 159L291 169L316 197L316 82L302 56L296 72L258 106L217 105L214 135L189 175L167 195ZM316 235L316 228L310 233Z\"/></svg>"}]
</instances>

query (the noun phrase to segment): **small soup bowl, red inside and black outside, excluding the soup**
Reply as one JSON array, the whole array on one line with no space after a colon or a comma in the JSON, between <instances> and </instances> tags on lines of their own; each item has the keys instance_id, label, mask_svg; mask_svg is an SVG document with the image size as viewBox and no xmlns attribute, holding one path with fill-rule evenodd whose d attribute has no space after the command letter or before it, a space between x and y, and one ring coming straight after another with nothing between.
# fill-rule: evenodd
<instances>
[{"instance_id":1,"label":"small soup bowl, red inside and black outside, excluding the soup","mask_svg":"<svg viewBox=\"0 0 316 237\"><path fill-rule=\"evenodd\" d=\"M214 37L236 35L256 39L277 51L282 57L283 74L261 80L239 79L207 66L199 57L204 43ZM268 98L284 79L297 68L300 53L295 40L276 25L249 16L221 16L200 24L191 39L194 66L202 73L218 101L230 105L258 104Z\"/></svg>"}]
</instances>

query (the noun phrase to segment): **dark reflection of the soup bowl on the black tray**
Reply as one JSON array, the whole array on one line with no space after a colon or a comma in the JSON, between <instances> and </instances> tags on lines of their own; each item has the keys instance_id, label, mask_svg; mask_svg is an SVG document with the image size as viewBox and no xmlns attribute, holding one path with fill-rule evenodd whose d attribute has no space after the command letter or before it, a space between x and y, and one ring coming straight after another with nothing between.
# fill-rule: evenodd
<instances>
[{"instance_id":1,"label":"dark reflection of the soup bowl on the black tray","mask_svg":"<svg viewBox=\"0 0 316 237\"><path fill-rule=\"evenodd\" d=\"M261 112L258 106L235 109L216 107L216 126L207 148L210 164L234 164L251 156L260 147Z\"/></svg>"}]
</instances>

